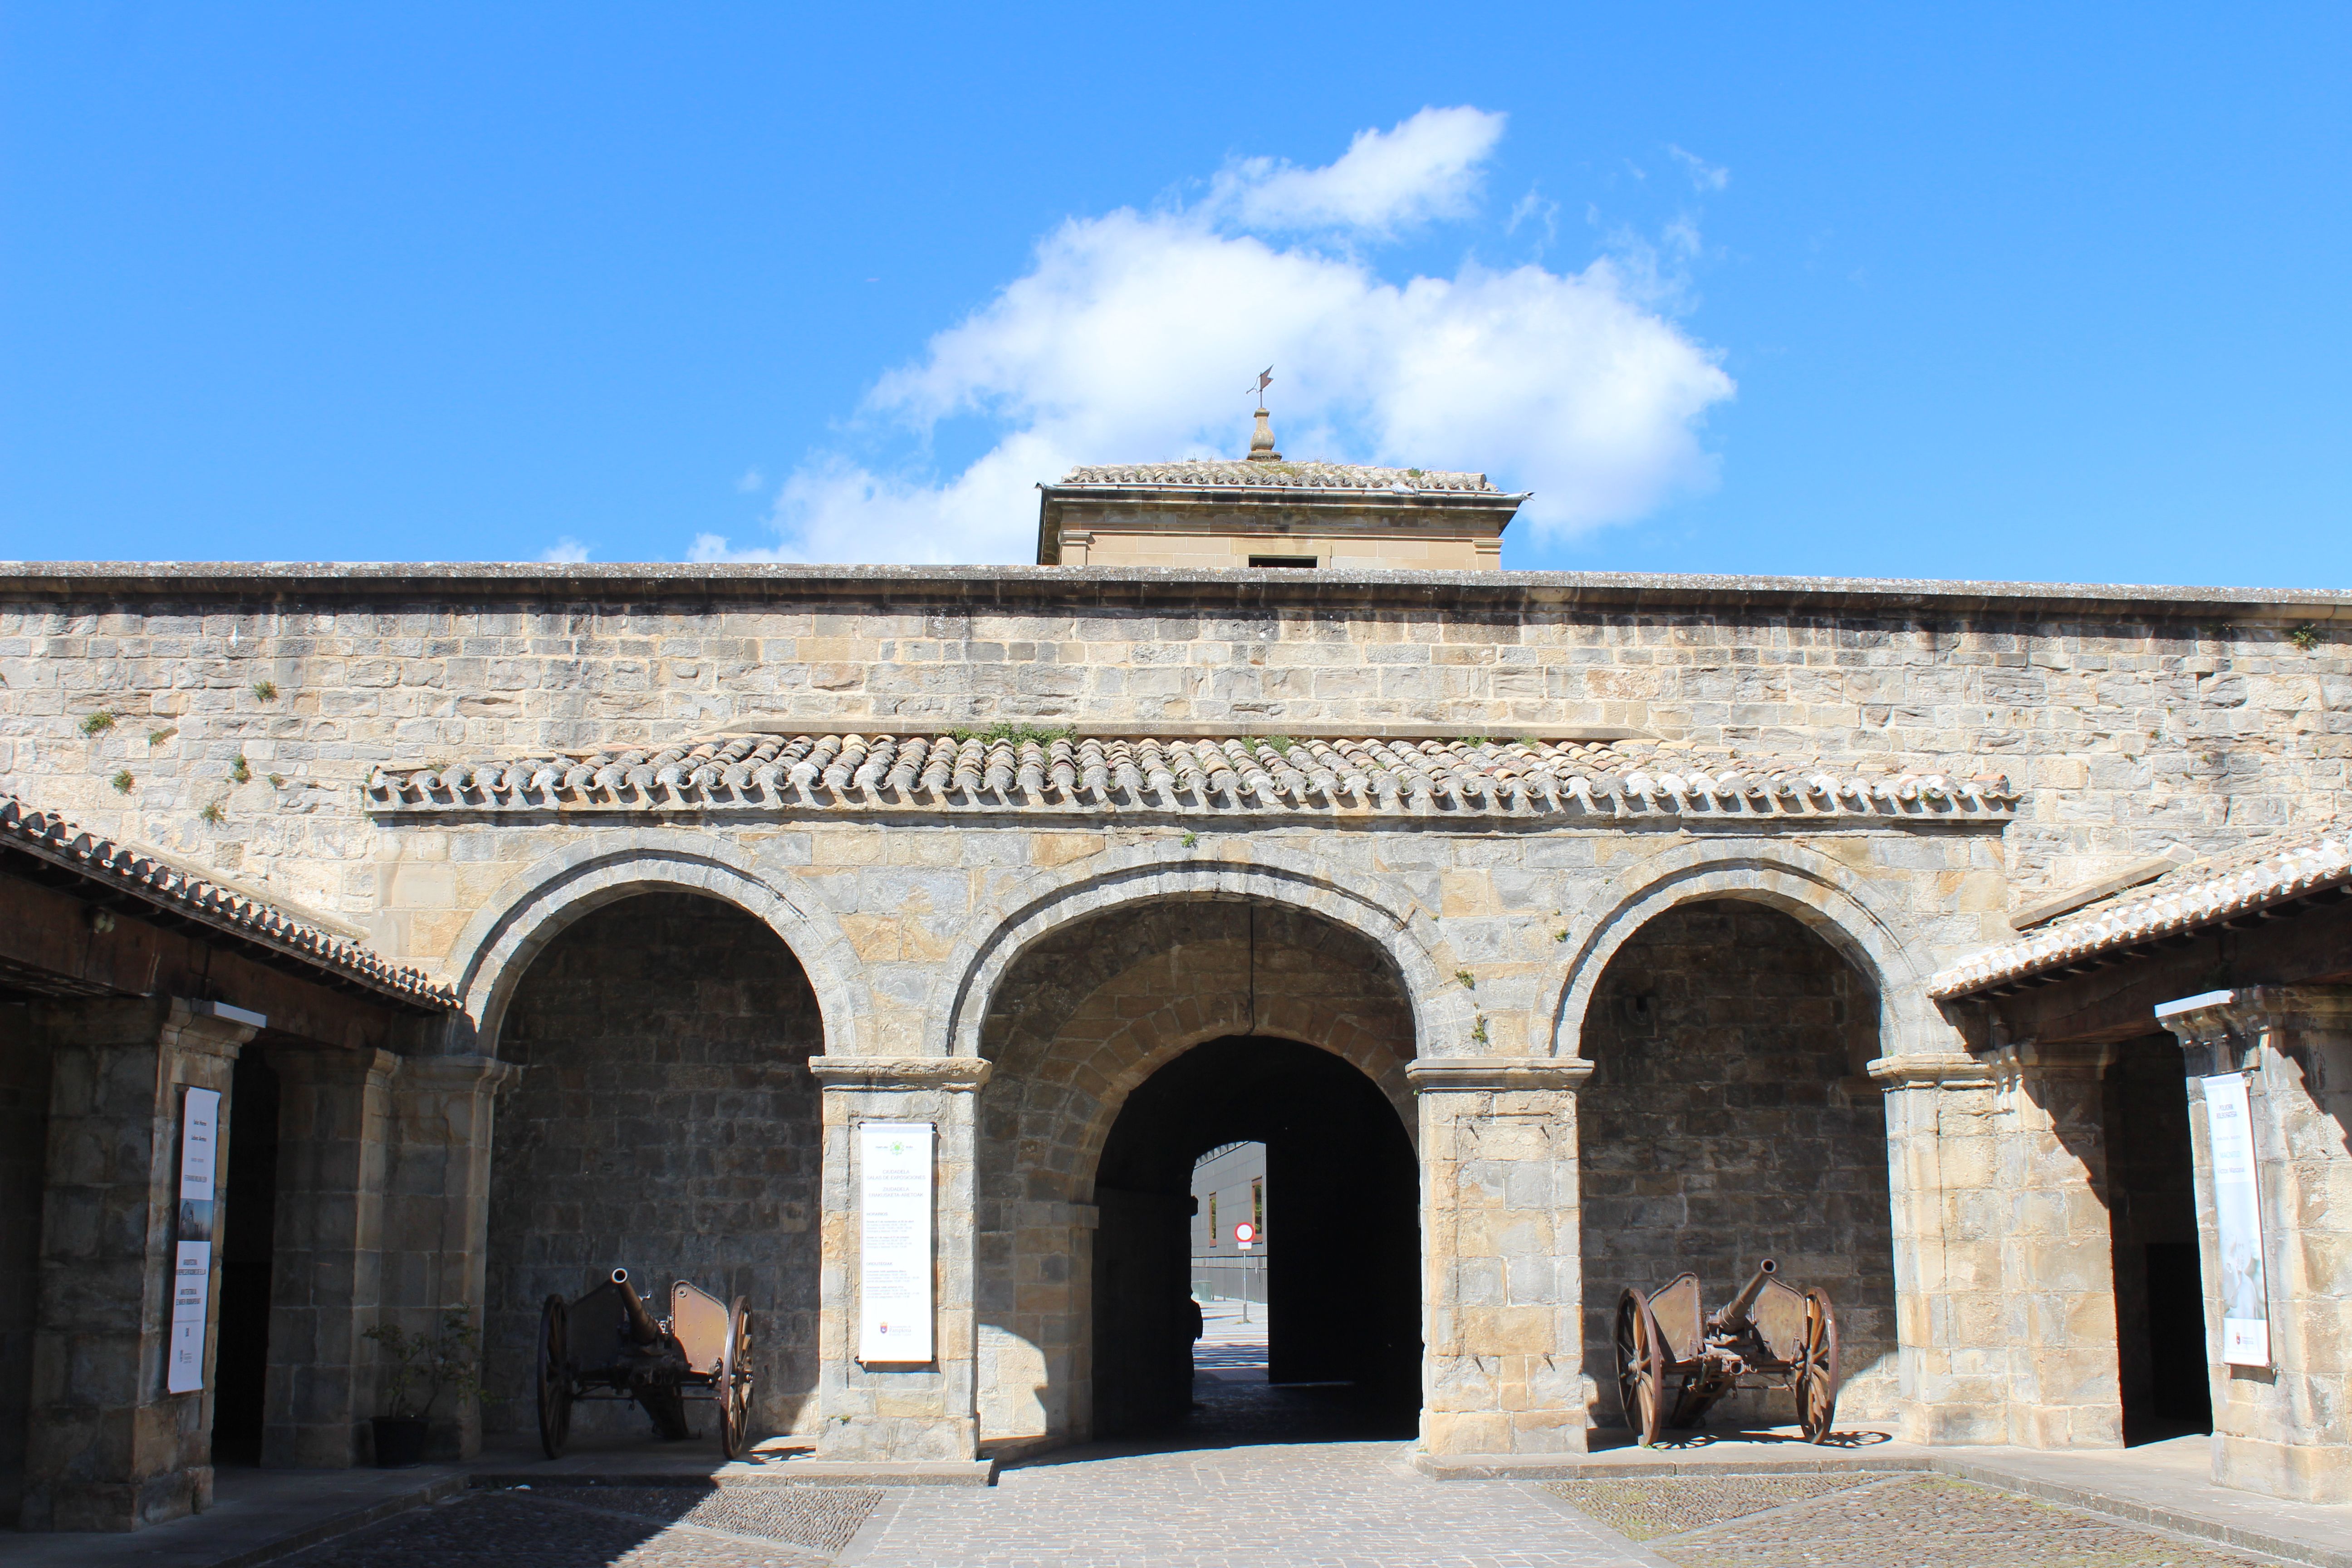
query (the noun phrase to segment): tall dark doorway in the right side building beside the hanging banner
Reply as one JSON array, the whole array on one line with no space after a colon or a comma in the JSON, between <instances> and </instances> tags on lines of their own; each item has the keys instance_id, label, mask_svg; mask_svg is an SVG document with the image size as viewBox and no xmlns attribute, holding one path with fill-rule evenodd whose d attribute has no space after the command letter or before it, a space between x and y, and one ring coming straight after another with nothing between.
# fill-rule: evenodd
<instances>
[{"instance_id":1,"label":"tall dark doorway in the right side building beside the hanging banner","mask_svg":"<svg viewBox=\"0 0 2352 1568\"><path fill-rule=\"evenodd\" d=\"M2187 1067L2171 1034L2117 1046L2103 1081L2124 1441L2213 1429Z\"/></svg>"}]
</instances>

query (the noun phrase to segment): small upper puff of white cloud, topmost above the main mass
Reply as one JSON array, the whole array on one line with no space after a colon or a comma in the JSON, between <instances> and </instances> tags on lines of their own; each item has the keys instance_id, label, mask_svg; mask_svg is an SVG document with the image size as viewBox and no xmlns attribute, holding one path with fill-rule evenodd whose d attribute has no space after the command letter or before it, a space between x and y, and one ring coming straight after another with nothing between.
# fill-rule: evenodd
<instances>
[{"instance_id":1,"label":"small upper puff of white cloud, topmost above the main mass","mask_svg":"<svg viewBox=\"0 0 2352 1568\"><path fill-rule=\"evenodd\" d=\"M1392 132L1357 132L1338 162L1298 169L1272 158L1228 165L1204 209L1242 228L1345 228L1385 235L1430 219L1465 216L1479 165L1503 139L1503 115L1423 108Z\"/></svg>"}]
</instances>

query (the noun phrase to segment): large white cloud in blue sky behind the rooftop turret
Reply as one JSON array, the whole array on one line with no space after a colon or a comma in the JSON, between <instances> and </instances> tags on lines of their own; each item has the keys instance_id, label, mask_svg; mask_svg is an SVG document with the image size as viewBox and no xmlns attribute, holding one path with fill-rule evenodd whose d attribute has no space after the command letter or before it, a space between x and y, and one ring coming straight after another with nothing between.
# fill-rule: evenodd
<instances>
[{"instance_id":1,"label":"large white cloud in blue sky behind the rooftop turret","mask_svg":"<svg viewBox=\"0 0 2352 1568\"><path fill-rule=\"evenodd\" d=\"M1242 388L1268 360L1291 458L1486 470L1536 491L1519 529L1545 541L1708 487L1698 428L1733 386L1661 313L1656 268L1465 261L1390 282L1352 252L1249 233L1324 214L1341 237L1378 237L1458 212L1498 132L1501 115L1423 110L1327 169L1240 165L1195 207L1063 223L1023 277L866 400L917 449L946 418L981 416L1000 433L985 454L953 477L818 454L779 491L776 545L706 534L691 557L1025 562L1040 480L1240 456Z\"/></svg>"}]
</instances>

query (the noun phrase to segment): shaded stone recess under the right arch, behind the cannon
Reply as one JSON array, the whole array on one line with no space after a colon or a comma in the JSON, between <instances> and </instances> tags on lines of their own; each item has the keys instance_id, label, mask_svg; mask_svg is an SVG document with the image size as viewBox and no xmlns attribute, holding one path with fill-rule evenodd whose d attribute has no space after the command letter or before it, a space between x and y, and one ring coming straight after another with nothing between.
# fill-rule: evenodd
<instances>
[{"instance_id":1,"label":"shaded stone recess under the right arch, behind the cannon","mask_svg":"<svg viewBox=\"0 0 2352 1568\"><path fill-rule=\"evenodd\" d=\"M1870 978L1762 903L1677 905L1609 959L1583 1020L1578 1095L1585 1375L1621 1425L1611 1345L1625 1286L1698 1274L1722 1307L1773 1258L1823 1286L1844 1361L1839 1427L1893 1408L1896 1286L1886 1112ZM1788 1394L1738 1392L1710 1427L1778 1427Z\"/></svg>"}]
</instances>

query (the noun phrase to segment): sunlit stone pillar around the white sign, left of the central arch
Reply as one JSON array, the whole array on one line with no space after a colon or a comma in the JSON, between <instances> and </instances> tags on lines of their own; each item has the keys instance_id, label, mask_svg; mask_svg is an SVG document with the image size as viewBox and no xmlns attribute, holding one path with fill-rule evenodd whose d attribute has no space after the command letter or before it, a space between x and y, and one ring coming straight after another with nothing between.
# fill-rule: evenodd
<instances>
[{"instance_id":1,"label":"sunlit stone pillar around the white sign, left of the central arch","mask_svg":"<svg viewBox=\"0 0 2352 1568\"><path fill-rule=\"evenodd\" d=\"M823 1460L978 1458L978 1302L974 1298L978 1168L976 1056L816 1056L826 1086L823 1321L818 1410ZM929 1366L861 1366L858 1171L861 1121L929 1121L934 1143Z\"/></svg>"}]
</instances>

